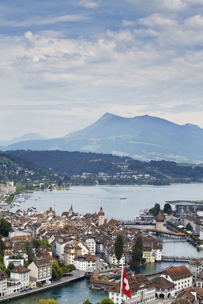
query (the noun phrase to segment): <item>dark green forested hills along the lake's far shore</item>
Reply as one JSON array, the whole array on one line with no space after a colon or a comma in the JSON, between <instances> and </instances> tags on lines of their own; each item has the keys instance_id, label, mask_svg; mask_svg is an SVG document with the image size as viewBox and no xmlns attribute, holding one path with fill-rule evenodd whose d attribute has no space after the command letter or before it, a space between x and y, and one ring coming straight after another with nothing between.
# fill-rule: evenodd
<instances>
[{"instance_id":1,"label":"dark green forested hills along the lake's far shore","mask_svg":"<svg viewBox=\"0 0 203 304\"><path fill-rule=\"evenodd\" d=\"M97 174L99 172L115 175L116 173L127 172L133 174L149 174L156 179L166 178L185 179L182 182L201 182L203 180L203 165L177 165L174 161L139 161L130 157L119 157L112 154L97 154L91 152L68 152L68 151L5 151L44 168L51 168L53 171L66 173L68 175L82 174L88 172ZM123 174L121 174L123 175ZM135 175L134 175L135 176ZM140 178L140 177L139 177ZM144 175L143 175L143 178ZM134 181L134 180L133 180ZM175 181L175 182L178 182Z\"/></svg>"}]
</instances>

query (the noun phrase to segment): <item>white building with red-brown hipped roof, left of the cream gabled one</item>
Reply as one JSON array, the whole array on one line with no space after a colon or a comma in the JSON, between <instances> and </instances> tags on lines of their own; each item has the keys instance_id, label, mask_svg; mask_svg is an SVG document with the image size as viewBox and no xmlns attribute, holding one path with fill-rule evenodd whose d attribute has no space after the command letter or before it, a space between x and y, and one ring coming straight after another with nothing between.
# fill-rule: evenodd
<instances>
[{"instance_id":1,"label":"white building with red-brown hipped roof, left of the cream gabled one","mask_svg":"<svg viewBox=\"0 0 203 304\"><path fill-rule=\"evenodd\" d=\"M19 265L11 270L11 279L17 279L20 282L20 290L28 289L30 285L30 269Z\"/></svg>"}]
</instances>

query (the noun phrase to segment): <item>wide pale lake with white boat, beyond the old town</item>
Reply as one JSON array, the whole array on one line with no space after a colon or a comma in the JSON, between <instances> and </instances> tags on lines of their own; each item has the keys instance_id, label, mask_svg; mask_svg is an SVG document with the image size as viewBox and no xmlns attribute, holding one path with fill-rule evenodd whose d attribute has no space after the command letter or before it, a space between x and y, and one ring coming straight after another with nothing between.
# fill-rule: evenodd
<instances>
[{"instance_id":1,"label":"wide pale lake with white boat, beyond the old town","mask_svg":"<svg viewBox=\"0 0 203 304\"><path fill-rule=\"evenodd\" d=\"M122 195L127 196L127 199L120 199ZM35 201L35 196L40 199ZM56 214L61 216L63 211L69 210L72 203L73 211L79 214L95 211L98 213L102 206L107 219L134 219L134 216L139 214L139 209L153 207L155 203L159 203L163 208L165 201L202 200L203 184L71 186L57 192L35 191L31 193L31 197L33 200L26 200L26 203L22 203L20 207L15 206L11 211L15 212L19 208L26 210L31 206L39 211L51 206Z\"/></svg>"}]
</instances>

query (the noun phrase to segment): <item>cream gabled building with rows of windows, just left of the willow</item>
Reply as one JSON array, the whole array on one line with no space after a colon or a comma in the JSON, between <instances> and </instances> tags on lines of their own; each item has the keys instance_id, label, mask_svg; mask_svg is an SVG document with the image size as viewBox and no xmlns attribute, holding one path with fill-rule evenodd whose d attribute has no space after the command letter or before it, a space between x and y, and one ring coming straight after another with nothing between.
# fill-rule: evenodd
<instances>
[{"instance_id":1,"label":"cream gabled building with rows of windows, just left of the willow","mask_svg":"<svg viewBox=\"0 0 203 304\"><path fill-rule=\"evenodd\" d=\"M30 276L37 279L37 285L50 281L51 263L48 259L33 261L28 267L30 269Z\"/></svg>"}]
</instances>

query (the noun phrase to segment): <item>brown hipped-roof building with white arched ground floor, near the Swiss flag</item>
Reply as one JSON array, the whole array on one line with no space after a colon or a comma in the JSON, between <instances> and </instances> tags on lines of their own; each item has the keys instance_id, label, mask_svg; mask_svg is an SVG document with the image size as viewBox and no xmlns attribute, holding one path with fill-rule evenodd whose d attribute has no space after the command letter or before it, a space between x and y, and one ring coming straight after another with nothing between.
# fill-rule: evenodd
<instances>
[{"instance_id":1,"label":"brown hipped-roof building with white arched ground floor, near the Swiss flag","mask_svg":"<svg viewBox=\"0 0 203 304\"><path fill-rule=\"evenodd\" d=\"M171 299L175 295L176 284L163 277L155 277L151 280L156 286L156 298Z\"/></svg>"}]
</instances>

